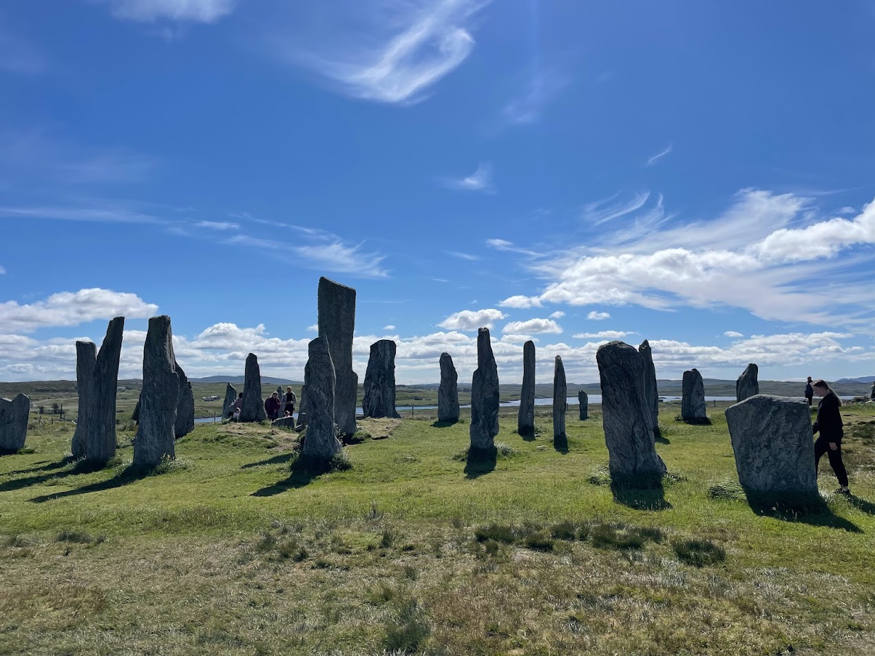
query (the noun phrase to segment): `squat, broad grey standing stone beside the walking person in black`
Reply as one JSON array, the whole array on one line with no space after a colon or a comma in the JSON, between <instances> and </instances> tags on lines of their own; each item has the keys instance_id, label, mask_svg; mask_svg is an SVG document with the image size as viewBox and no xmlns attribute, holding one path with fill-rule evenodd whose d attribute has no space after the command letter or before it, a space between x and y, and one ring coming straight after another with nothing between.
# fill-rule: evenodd
<instances>
[{"instance_id":1,"label":"squat, broad grey standing stone beside the walking person in black","mask_svg":"<svg viewBox=\"0 0 875 656\"><path fill-rule=\"evenodd\" d=\"M755 394L726 408L739 483L752 492L817 493L808 401Z\"/></svg>"}]
</instances>

